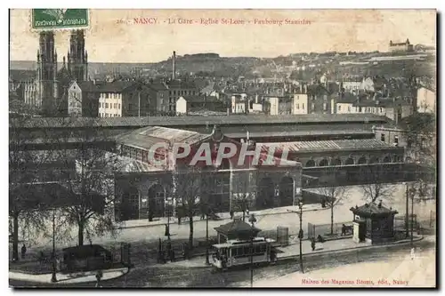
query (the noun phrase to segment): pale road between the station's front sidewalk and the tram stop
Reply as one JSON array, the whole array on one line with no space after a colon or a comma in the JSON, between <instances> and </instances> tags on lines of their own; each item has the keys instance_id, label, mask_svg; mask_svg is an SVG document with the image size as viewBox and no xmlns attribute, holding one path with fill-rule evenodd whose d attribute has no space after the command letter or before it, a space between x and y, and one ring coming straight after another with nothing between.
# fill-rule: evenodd
<instances>
[{"instance_id":1,"label":"pale road between the station's front sidewalk and the tram stop","mask_svg":"<svg viewBox=\"0 0 445 296\"><path fill-rule=\"evenodd\" d=\"M317 192L317 189L312 189ZM342 201L336 205L334 210L334 222L341 223L352 220L352 212L350 211L352 206L363 204L360 186L352 186L348 188L347 194L342 198ZM397 184L393 186L393 194L391 199L384 200L384 205L392 207L399 212L399 215L405 213L405 186ZM419 219L427 220L430 218L430 211L435 211L435 201L428 201L427 203L415 204L415 213L419 216ZM409 205L410 210L410 205ZM214 231L215 227L221 224L227 223L229 220L223 221L209 221L209 236L216 236ZM330 210L319 210L316 212L304 212L303 213L303 231L306 233L308 222L312 224L329 224L330 223ZM257 228L263 230L276 229L278 226L289 228L289 234L297 234L299 229L299 220L295 213L287 212L267 216L257 217L255 224ZM164 238L165 227L163 225L151 226L146 228L124 228L120 229L117 236L111 236L106 234L101 237L93 237L94 244L112 244L117 242L125 243L150 243L158 241L158 238ZM172 239L186 240L189 237L189 224L184 223L182 225L172 224L170 228ZM58 240L57 247L66 247L69 245L76 245L77 229L72 229L72 236L68 239ZM206 236L206 223L205 221L198 220L195 222L194 237L203 238ZM44 246L51 246L51 237L38 236L35 237L30 249Z\"/></svg>"}]
</instances>

